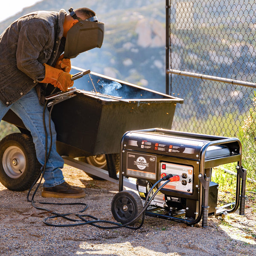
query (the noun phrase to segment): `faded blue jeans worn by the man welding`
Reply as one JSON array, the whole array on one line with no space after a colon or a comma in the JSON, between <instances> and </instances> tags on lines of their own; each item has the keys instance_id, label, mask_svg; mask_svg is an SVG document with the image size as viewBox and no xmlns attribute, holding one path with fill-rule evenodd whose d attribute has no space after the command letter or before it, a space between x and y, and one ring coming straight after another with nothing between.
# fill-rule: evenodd
<instances>
[{"instance_id":1,"label":"faded blue jeans worn by the man welding","mask_svg":"<svg viewBox=\"0 0 256 256\"><path fill-rule=\"evenodd\" d=\"M3 102L0 101L0 120L6 114L6 112L12 109L17 116L23 121L26 128L30 131L33 142L35 144L35 151L38 162L44 165L45 156L45 132L43 124L43 109L44 107L39 104L38 96L35 89L32 89L17 100L15 103L6 107ZM45 111L45 122L47 127L47 145L49 150L50 145L50 133L49 133L49 111ZM44 187L57 186L64 182L64 177L61 168L64 166L64 160L56 151L56 131L54 123L51 121L52 129L52 150L47 161L45 173L44 173ZM47 151L48 151L47 150Z\"/></svg>"}]
</instances>

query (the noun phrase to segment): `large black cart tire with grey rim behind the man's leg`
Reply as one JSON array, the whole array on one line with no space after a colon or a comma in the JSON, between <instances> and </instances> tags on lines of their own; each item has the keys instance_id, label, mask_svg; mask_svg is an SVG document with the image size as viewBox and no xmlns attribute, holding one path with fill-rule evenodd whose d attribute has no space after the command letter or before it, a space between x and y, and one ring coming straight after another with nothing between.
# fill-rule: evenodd
<instances>
[{"instance_id":1,"label":"large black cart tire with grey rim behind the man's leg","mask_svg":"<svg viewBox=\"0 0 256 256\"><path fill-rule=\"evenodd\" d=\"M24 191L39 178L41 164L32 137L13 133L0 141L0 182L7 189Z\"/></svg>"}]
</instances>

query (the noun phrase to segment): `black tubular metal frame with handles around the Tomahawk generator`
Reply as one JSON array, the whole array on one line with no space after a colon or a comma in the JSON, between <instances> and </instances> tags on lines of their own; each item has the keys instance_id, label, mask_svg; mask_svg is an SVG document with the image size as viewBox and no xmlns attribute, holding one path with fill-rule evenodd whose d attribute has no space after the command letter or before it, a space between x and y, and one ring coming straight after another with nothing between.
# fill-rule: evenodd
<instances>
[{"instance_id":1,"label":"black tubular metal frame with handles around the Tomahawk generator","mask_svg":"<svg viewBox=\"0 0 256 256\"><path fill-rule=\"evenodd\" d=\"M208 226L208 199L209 199L209 184L211 179L211 172L209 172L209 169L212 167L216 167L219 165L223 165L226 163L233 163L237 162L236 166L236 172L237 172L237 178L236 178L236 201L233 204L231 204L232 209L225 209L221 208L216 210L215 216L223 215L225 213L232 213L235 212L240 205L239 208L239 215L244 215L244 207L245 207L245 186L246 186L246 169L243 169L241 165L241 157L242 157L242 147L241 142L237 138L229 138L229 137L219 137L219 136L211 136L211 135L205 135L205 134L195 134L195 133L187 133L187 132L180 132L180 131L172 131L172 130L165 130L160 128L152 128L152 129L144 129L144 130L138 130L138 131L128 131L126 132L121 141L121 157L120 157L120 172L119 172L119 192L122 191L124 188L123 180L127 180L126 178L129 178L130 175L127 175L127 172L124 170L124 164L123 164L123 156L125 152L128 152L129 149L127 148L127 145L124 144L125 137L128 134L131 133L137 133L141 135L145 134L166 134L171 137L179 137L182 139L192 139L192 140L206 140L207 142L204 143L204 145L201 147L200 154L197 154L196 163L199 164L199 174L198 177L195 177L195 179L198 179L199 182L199 189L198 189L198 216L195 219L186 219L186 218L179 218L175 216L169 216L169 215L163 215L160 213L155 213L152 211L146 210L145 214L149 216L154 216L157 218L164 218L169 219L173 221L179 221L186 223L188 225L193 225L201 221L202 219L202 227ZM207 149L210 146L215 145L224 145L225 147L232 148L232 154L229 155L220 155L215 156L207 159L206 152ZM236 148L234 152L233 149ZM162 156L160 152L156 153L157 156ZM172 162L175 162L175 160L179 159L182 160L183 157L180 156L168 156L169 160ZM184 157L184 159L186 159ZM159 176L159 175L158 175ZM158 177L160 179L160 177ZM224 207L227 207L224 206Z\"/></svg>"}]
</instances>

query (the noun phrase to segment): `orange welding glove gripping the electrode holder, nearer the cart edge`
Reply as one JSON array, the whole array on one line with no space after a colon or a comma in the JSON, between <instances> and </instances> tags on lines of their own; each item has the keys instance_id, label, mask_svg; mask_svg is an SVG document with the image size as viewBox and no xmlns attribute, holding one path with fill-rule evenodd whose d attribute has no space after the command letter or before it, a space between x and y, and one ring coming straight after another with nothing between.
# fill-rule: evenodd
<instances>
[{"instance_id":1,"label":"orange welding glove gripping the electrode holder, nearer the cart edge","mask_svg":"<svg viewBox=\"0 0 256 256\"><path fill-rule=\"evenodd\" d=\"M41 83L52 84L54 87L58 87L62 91L67 91L68 87L72 87L74 81L71 80L70 73L59 70L55 67L51 67L47 64L43 64L45 67L44 80Z\"/></svg>"}]
</instances>

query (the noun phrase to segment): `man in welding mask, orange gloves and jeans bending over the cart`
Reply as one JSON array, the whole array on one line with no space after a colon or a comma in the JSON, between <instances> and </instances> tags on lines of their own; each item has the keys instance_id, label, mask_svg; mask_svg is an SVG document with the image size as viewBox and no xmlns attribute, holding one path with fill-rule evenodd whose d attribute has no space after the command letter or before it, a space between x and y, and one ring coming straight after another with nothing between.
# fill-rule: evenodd
<instances>
[{"instance_id":1,"label":"man in welding mask, orange gloves and jeans bending over the cart","mask_svg":"<svg viewBox=\"0 0 256 256\"><path fill-rule=\"evenodd\" d=\"M84 29L84 27L91 29ZM0 35L0 118L11 109L22 119L35 144L43 166L46 135L43 125L44 92L47 84L66 91L73 86L70 58L101 47L104 23L88 8L60 12L33 12L17 19ZM93 34L93 36L91 36ZM69 42L68 44L66 43ZM64 52L64 55L62 54ZM49 111L45 120L48 122ZM50 143L49 123L47 141ZM82 198L84 190L65 182L61 169L64 160L56 151L56 131L51 121L52 149L44 173L42 196Z\"/></svg>"}]
</instances>

